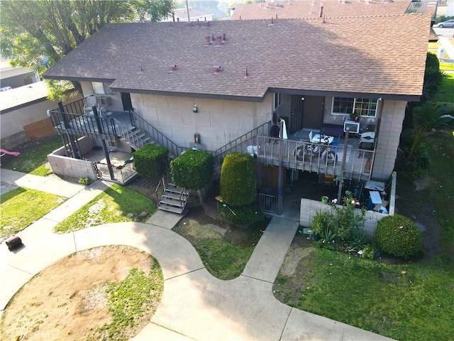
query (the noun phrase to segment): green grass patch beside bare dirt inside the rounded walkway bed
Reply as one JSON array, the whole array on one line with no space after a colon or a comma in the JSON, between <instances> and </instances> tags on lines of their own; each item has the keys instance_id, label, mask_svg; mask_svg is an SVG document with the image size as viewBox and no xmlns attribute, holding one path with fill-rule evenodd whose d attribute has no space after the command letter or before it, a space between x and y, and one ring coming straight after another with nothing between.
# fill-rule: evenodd
<instances>
[{"instance_id":1,"label":"green grass patch beside bare dirt inside the rounded walkway bed","mask_svg":"<svg viewBox=\"0 0 454 341\"><path fill-rule=\"evenodd\" d=\"M133 268L123 281L111 283L106 292L113 318L111 323L99 328L101 335L97 335L96 339L129 340L131 329L145 322L143 316L150 315L148 310L156 310L163 290L164 279L157 261L154 261L148 275Z\"/></svg>"}]
</instances>

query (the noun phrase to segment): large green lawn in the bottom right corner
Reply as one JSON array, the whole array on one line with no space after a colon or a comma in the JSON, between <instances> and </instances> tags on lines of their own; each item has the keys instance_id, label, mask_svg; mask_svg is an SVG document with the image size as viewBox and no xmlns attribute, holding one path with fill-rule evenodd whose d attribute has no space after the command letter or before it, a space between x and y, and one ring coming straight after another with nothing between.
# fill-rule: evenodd
<instances>
[{"instance_id":1,"label":"large green lawn in the bottom right corner","mask_svg":"<svg viewBox=\"0 0 454 341\"><path fill-rule=\"evenodd\" d=\"M300 266L304 290L279 292L281 274L275 284L289 305L396 340L450 340L454 271L441 261L386 265L314 249Z\"/></svg>"}]
</instances>

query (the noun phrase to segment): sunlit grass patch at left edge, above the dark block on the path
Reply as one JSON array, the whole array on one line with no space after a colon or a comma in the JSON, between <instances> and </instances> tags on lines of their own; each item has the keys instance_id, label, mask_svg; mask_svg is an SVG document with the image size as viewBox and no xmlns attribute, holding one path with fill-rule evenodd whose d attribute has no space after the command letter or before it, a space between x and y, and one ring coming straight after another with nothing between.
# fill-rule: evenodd
<instances>
[{"instance_id":1,"label":"sunlit grass patch at left edge, above the dark block on the path","mask_svg":"<svg viewBox=\"0 0 454 341\"><path fill-rule=\"evenodd\" d=\"M21 187L2 194L0 239L6 239L22 231L65 200L58 195Z\"/></svg>"}]
</instances>

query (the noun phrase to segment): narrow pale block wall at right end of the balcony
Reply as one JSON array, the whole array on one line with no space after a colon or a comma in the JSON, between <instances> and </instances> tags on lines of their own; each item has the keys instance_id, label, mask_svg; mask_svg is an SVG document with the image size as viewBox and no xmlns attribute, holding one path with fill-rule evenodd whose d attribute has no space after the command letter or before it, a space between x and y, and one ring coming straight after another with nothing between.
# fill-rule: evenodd
<instances>
[{"instance_id":1,"label":"narrow pale block wall at right end of the balcony","mask_svg":"<svg viewBox=\"0 0 454 341\"><path fill-rule=\"evenodd\" d=\"M383 101L382 120L378 132L372 178L388 180L397 158L406 101Z\"/></svg>"}]
</instances>

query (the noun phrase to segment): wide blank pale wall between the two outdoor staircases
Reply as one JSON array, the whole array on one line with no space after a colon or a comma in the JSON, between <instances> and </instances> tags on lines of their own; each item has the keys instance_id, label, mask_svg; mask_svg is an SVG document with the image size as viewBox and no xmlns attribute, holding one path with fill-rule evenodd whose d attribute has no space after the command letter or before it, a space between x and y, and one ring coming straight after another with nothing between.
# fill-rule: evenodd
<instances>
[{"instance_id":1,"label":"wide blank pale wall between the two outdoor staircases","mask_svg":"<svg viewBox=\"0 0 454 341\"><path fill-rule=\"evenodd\" d=\"M131 94L135 112L178 146L214 151L272 119L273 95L263 102ZM198 112L192 112L194 104Z\"/></svg>"}]
</instances>

